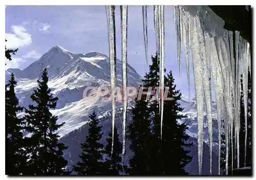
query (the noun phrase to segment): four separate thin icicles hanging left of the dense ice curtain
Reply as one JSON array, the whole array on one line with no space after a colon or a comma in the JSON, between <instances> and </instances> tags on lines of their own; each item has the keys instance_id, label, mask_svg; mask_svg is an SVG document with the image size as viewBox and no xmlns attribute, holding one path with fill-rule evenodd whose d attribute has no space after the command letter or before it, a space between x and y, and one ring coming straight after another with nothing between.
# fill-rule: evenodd
<instances>
[{"instance_id":1,"label":"four separate thin icicles hanging left of the dense ice curtain","mask_svg":"<svg viewBox=\"0 0 256 180\"><path fill-rule=\"evenodd\" d=\"M128 6L120 6L121 14L121 44L122 44L122 86L123 86L123 147L122 147L122 163L124 161L125 153L125 128L126 128L126 112L127 112L127 8ZM116 87L116 31L115 31L115 6L106 6L106 14L108 19L109 32L109 51L110 51L110 86L111 92ZM143 15L143 31L144 31L144 45L146 64L147 63L147 7L142 6ZM154 6L154 24L157 38L157 52L159 54L158 60L160 62L160 97L163 97L164 87L164 6ZM114 145L114 125L115 125L115 99L112 96L112 149ZM160 98L161 111L161 138L162 138L162 122L163 122L163 98Z\"/></svg>"}]
</instances>

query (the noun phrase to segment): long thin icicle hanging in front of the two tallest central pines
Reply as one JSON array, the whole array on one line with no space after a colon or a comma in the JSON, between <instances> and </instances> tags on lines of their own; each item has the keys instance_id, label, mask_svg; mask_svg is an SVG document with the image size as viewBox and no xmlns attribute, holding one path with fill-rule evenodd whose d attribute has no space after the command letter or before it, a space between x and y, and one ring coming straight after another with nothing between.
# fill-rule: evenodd
<instances>
[{"instance_id":1,"label":"long thin icicle hanging in front of the two tallest central pines","mask_svg":"<svg viewBox=\"0 0 256 180\"><path fill-rule=\"evenodd\" d=\"M160 6L160 20L159 20L159 29L160 29L160 92L161 92L161 139L162 139L162 126L163 126L163 94L164 94L164 6Z\"/></svg>"}]
</instances>

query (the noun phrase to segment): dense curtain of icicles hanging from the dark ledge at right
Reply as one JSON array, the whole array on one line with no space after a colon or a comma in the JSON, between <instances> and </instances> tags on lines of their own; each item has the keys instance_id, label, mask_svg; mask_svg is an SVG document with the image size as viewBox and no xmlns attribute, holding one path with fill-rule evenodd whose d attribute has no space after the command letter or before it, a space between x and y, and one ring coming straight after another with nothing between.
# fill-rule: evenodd
<instances>
[{"instance_id":1,"label":"dense curtain of icicles hanging from the dark ledge at right","mask_svg":"<svg viewBox=\"0 0 256 180\"><path fill-rule=\"evenodd\" d=\"M210 147L210 174L212 155L212 114L211 114L211 81L213 78L215 85L215 95L218 116L219 153L218 153L218 173L220 174L220 153L221 153L221 120L224 119L225 143L226 143L226 174L228 173L228 144L231 139L231 147L237 148L237 168L239 168L239 132L240 132L240 98L241 83L240 75L243 76L243 94L245 109L245 161L247 146L247 102L248 102L248 68L250 72L250 44L244 40L239 32L232 32L223 29L223 25L218 28L223 29L222 36L218 36L216 31L206 31L204 24L205 16L208 13L215 14L209 10L201 12L189 12L183 6L174 8L179 70L181 64L181 47L184 49L187 68L187 80L189 86L189 63L194 66L195 89L197 99L197 119L198 119L198 162L199 174L202 173L203 157L203 118L204 99L206 101L206 114L209 132ZM201 17L200 17L201 15ZM202 17L204 15L204 17ZM209 16L210 17L210 16ZM213 19L213 18L212 18ZM207 20L207 19L206 19ZM212 23L214 22L207 22ZM214 27L214 25L212 25ZM208 28L208 27L207 27ZM233 42L234 39L234 42ZM233 49L235 48L235 49ZM234 54L235 52L235 54ZM231 148L231 168L233 169L233 148ZM245 165L245 162L244 162Z\"/></svg>"}]
</instances>

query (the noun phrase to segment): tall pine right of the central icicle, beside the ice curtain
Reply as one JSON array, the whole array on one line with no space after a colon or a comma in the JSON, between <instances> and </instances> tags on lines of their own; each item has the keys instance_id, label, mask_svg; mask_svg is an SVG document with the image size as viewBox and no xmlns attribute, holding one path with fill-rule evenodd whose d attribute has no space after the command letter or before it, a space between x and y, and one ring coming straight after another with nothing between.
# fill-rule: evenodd
<instances>
[{"instance_id":1,"label":"tall pine right of the central icicle, beside the ice curtain","mask_svg":"<svg viewBox=\"0 0 256 180\"><path fill-rule=\"evenodd\" d=\"M184 147L191 146L186 143L189 136L185 134L188 129L185 123L180 123L179 120L186 116L179 114L183 111L180 107L181 100L180 90L176 90L172 71L165 78L165 87L169 87L168 97L172 97L172 101L164 101L163 115L163 130L162 130L162 160L164 175L186 175L185 166L192 160L188 156L189 151ZM160 119L159 119L160 120ZM170 152L171 151L171 152ZM169 162L174 164L171 168L168 167Z\"/></svg>"}]
</instances>

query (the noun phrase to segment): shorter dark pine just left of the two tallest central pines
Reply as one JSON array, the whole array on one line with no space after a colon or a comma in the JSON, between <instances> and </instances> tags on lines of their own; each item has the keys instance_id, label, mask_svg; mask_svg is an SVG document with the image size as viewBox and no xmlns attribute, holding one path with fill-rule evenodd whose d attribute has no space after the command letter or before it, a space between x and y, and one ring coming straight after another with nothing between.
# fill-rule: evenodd
<instances>
[{"instance_id":1,"label":"shorter dark pine just left of the two tallest central pines","mask_svg":"<svg viewBox=\"0 0 256 180\"><path fill-rule=\"evenodd\" d=\"M133 157L130 159L130 168L127 173L130 175L150 175L150 112L148 102L142 99L135 99L135 107L132 109L132 121L127 126L127 138L131 141L130 149Z\"/></svg>"}]
</instances>

